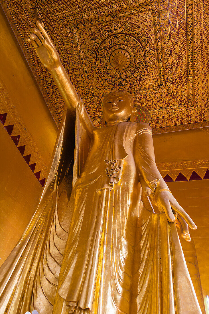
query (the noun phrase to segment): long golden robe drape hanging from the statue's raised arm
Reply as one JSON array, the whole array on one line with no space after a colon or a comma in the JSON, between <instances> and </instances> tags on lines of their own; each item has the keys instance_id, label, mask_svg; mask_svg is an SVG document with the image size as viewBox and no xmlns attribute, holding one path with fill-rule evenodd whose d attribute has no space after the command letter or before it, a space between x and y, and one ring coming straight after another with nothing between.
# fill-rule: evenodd
<instances>
[{"instance_id":1,"label":"long golden robe drape hanging from the statue's raised arm","mask_svg":"<svg viewBox=\"0 0 209 314\"><path fill-rule=\"evenodd\" d=\"M60 207L70 211L75 115L65 110L61 125L38 208L0 268L1 314L24 314L33 309L51 313L53 308L69 228L70 214L61 224L58 212ZM59 184L65 176L64 193ZM63 198L66 208L58 205Z\"/></svg>"}]
</instances>

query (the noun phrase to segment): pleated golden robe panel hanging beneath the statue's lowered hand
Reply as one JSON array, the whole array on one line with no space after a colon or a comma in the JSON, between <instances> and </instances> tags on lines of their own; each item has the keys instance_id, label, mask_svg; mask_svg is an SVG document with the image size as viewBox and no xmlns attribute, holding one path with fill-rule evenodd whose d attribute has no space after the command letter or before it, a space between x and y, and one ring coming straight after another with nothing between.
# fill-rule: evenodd
<instances>
[{"instance_id":1,"label":"pleated golden robe panel hanging beneath the statue's lowered hand","mask_svg":"<svg viewBox=\"0 0 209 314\"><path fill-rule=\"evenodd\" d=\"M130 313L201 314L176 225L144 212L136 238Z\"/></svg>"}]
</instances>

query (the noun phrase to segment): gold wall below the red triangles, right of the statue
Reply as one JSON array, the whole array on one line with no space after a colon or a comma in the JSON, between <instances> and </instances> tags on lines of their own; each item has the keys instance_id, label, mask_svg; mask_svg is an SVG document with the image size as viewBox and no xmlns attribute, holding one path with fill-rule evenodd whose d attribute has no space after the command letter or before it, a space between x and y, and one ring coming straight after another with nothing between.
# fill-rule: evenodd
<instances>
[{"instance_id":1,"label":"gold wall below the red triangles, right of the statue","mask_svg":"<svg viewBox=\"0 0 209 314\"><path fill-rule=\"evenodd\" d=\"M200 295L202 289L206 314L209 314L206 304L206 295L209 293L209 180L168 182L168 186L197 225L197 230L190 230L192 241L188 243L182 239L181 244L198 301L203 307ZM195 262L196 258L198 265ZM204 313L203 308L202 312Z\"/></svg>"}]
</instances>

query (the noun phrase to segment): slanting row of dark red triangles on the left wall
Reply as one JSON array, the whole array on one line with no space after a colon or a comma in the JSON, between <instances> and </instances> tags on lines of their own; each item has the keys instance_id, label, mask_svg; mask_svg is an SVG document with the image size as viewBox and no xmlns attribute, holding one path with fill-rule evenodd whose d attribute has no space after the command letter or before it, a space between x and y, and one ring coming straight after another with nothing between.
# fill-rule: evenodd
<instances>
[{"instance_id":1,"label":"slanting row of dark red triangles on the left wall","mask_svg":"<svg viewBox=\"0 0 209 314\"><path fill-rule=\"evenodd\" d=\"M3 126L4 126L4 123L6 121L6 118L7 118L7 113L0 113L0 122L3 124ZM17 147L17 149L19 150L20 154L23 156L25 162L29 165L31 154L28 154L28 155L24 156L25 145L18 146L20 135L13 135L13 136L11 136L12 131L13 131L13 127L14 127L13 124L4 126L5 130L9 134L10 138L13 140L13 142L14 142L15 146ZM29 165L29 167L30 167L30 169L31 169L31 171L33 173L35 171L35 166L36 166L36 163ZM41 171L38 171L38 172L34 173L34 175L38 179L40 185L42 187L44 187L46 178L43 178L43 179L39 180L40 179L40 174L41 174Z\"/></svg>"}]
</instances>

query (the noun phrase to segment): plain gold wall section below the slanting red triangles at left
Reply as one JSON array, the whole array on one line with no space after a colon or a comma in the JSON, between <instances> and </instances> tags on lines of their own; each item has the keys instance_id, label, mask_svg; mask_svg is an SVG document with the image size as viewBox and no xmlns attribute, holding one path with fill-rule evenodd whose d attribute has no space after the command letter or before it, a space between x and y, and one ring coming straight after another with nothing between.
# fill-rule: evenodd
<instances>
[{"instance_id":1,"label":"plain gold wall section below the slanting red triangles at left","mask_svg":"<svg viewBox=\"0 0 209 314\"><path fill-rule=\"evenodd\" d=\"M22 235L42 187L0 123L0 265Z\"/></svg>"}]
</instances>

